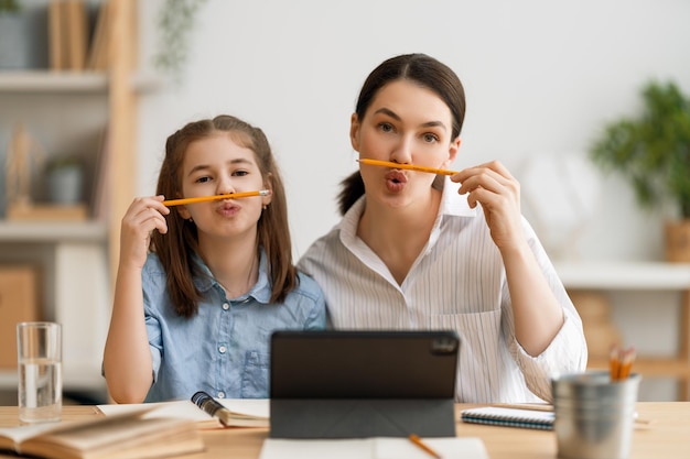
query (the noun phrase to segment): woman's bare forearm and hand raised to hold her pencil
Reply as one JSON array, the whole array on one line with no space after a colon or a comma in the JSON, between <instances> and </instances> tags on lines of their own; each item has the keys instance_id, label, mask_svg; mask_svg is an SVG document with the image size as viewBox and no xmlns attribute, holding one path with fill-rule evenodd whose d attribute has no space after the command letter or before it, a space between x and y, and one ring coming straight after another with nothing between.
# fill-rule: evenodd
<instances>
[{"instance_id":1,"label":"woman's bare forearm and hand raised to hold her pencil","mask_svg":"<svg viewBox=\"0 0 690 459\"><path fill-rule=\"evenodd\" d=\"M500 251L513 313L515 336L527 353L539 356L563 325L563 309L543 276L522 230L520 185L503 164L492 162L461 171L471 207L482 205L492 239Z\"/></svg>"}]
</instances>

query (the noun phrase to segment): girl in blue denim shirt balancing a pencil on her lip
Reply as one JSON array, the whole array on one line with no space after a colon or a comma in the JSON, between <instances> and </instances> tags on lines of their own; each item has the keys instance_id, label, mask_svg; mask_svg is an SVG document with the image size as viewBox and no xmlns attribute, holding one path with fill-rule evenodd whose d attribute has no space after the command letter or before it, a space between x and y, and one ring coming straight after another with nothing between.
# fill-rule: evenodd
<instances>
[{"instance_id":1,"label":"girl in blue denim shirt balancing a pencil on her lip","mask_svg":"<svg viewBox=\"0 0 690 459\"><path fill-rule=\"evenodd\" d=\"M268 189L268 196L168 207ZM158 196L122 218L104 372L118 403L268 397L270 335L322 329L323 293L292 264L283 184L263 132L191 122L165 143ZM149 250L150 249L150 250Z\"/></svg>"}]
</instances>

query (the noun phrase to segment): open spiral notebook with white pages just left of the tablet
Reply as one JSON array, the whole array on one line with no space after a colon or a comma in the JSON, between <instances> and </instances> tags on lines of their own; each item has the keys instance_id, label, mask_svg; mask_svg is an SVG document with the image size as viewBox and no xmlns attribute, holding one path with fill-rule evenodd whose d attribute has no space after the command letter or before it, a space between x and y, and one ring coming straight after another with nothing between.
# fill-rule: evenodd
<instances>
[{"instance_id":1,"label":"open spiral notebook with white pages just left of the tablet","mask_svg":"<svg viewBox=\"0 0 690 459\"><path fill-rule=\"evenodd\" d=\"M268 427L270 404L268 398L214 398L220 403L229 415L225 413L225 426L229 427ZM195 423L197 428L219 428L224 427L219 417L212 416L192 401L180 400L173 402L159 403L137 403L129 405L98 405L98 408L106 415L112 416L121 413L129 413L149 408L144 414L147 418L173 417L186 419Z\"/></svg>"}]
</instances>

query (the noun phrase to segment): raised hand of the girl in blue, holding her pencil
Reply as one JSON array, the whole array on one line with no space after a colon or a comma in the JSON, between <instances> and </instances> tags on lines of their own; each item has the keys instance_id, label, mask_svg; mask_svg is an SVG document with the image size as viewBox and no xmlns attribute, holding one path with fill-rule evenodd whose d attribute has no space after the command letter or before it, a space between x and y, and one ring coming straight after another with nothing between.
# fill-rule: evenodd
<instances>
[{"instance_id":1,"label":"raised hand of the girl in blue, holding her pencil","mask_svg":"<svg viewBox=\"0 0 690 459\"><path fill-rule=\"evenodd\" d=\"M149 252L151 232L168 232L165 217L170 209L165 207L163 196L134 198L122 217L120 231L120 265L130 264L142 269Z\"/></svg>"}]
</instances>

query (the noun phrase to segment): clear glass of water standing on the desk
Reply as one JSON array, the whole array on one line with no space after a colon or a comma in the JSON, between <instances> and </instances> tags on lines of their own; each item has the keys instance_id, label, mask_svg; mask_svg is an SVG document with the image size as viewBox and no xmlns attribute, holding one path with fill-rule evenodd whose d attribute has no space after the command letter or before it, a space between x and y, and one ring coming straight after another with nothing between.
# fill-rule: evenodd
<instances>
[{"instance_id":1,"label":"clear glass of water standing on the desk","mask_svg":"<svg viewBox=\"0 0 690 459\"><path fill-rule=\"evenodd\" d=\"M56 422L62 416L62 327L50 321L17 325L19 420Z\"/></svg>"}]
</instances>

